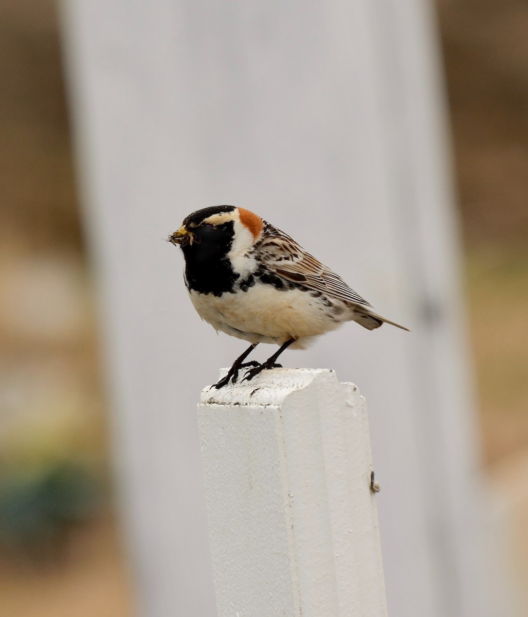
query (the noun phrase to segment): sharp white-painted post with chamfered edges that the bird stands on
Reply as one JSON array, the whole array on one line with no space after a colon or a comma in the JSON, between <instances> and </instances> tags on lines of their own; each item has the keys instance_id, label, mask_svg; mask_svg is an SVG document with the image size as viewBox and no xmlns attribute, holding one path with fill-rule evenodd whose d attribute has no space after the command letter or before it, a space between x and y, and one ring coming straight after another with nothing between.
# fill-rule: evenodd
<instances>
[{"instance_id":1,"label":"sharp white-painted post with chamfered edges that the bird stands on","mask_svg":"<svg viewBox=\"0 0 528 617\"><path fill-rule=\"evenodd\" d=\"M264 371L206 388L198 421L218 616L386 616L357 387Z\"/></svg>"}]
</instances>

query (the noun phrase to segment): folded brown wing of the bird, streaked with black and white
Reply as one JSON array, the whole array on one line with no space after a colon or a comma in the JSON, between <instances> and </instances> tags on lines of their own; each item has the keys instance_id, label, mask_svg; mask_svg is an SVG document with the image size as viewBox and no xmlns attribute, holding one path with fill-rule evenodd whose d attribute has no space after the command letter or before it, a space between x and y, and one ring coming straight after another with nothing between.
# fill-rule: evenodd
<instances>
[{"instance_id":1,"label":"folded brown wing of the bird, streaked with black and white","mask_svg":"<svg viewBox=\"0 0 528 617\"><path fill-rule=\"evenodd\" d=\"M340 300L348 300L365 307L371 306L334 271L277 228L269 225L265 236L255 248L257 261L276 275Z\"/></svg>"}]
</instances>

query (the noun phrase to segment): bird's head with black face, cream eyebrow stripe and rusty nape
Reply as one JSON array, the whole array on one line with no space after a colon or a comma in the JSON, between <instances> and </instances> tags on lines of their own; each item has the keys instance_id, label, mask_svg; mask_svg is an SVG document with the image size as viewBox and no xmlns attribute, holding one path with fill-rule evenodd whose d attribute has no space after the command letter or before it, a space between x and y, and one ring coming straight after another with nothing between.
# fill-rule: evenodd
<instances>
[{"instance_id":1,"label":"bird's head with black face, cream eyebrow stripe and rusty nape","mask_svg":"<svg viewBox=\"0 0 528 617\"><path fill-rule=\"evenodd\" d=\"M206 261L228 253L242 254L262 234L262 218L233 205L218 205L189 214L178 231L168 237L186 259Z\"/></svg>"}]
</instances>

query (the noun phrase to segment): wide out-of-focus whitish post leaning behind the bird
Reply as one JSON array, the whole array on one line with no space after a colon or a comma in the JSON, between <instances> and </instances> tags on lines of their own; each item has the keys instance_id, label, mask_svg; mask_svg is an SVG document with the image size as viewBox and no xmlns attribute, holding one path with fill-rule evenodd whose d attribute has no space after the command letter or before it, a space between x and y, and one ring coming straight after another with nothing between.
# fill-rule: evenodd
<instances>
[{"instance_id":1,"label":"wide out-of-focus whitish post leaning behind the bird","mask_svg":"<svg viewBox=\"0 0 528 617\"><path fill-rule=\"evenodd\" d=\"M162 238L234 204L412 330L351 324L283 360L368 399L389 615L491 615L429 2L62 7L142 614L214 614L192 410L242 347L200 322Z\"/></svg>"}]
</instances>

